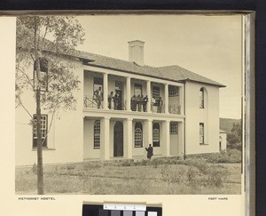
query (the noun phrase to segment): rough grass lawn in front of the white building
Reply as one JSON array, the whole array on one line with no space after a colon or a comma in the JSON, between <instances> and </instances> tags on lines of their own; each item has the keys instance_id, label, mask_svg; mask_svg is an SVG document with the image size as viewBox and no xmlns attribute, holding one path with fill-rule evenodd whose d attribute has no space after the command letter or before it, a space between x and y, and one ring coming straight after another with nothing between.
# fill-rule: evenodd
<instances>
[{"instance_id":1,"label":"rough grass lawn in front of the white building","mask_svg":"<svg viewBox=\"0 0 266 216\"><path fill-rule=\"evenodd\" d=\"M45 194L240 194L241 164L175 157L43 167ZM16 194L36 194L35 169L16 168Z\"/></svg>"}]
</instances>

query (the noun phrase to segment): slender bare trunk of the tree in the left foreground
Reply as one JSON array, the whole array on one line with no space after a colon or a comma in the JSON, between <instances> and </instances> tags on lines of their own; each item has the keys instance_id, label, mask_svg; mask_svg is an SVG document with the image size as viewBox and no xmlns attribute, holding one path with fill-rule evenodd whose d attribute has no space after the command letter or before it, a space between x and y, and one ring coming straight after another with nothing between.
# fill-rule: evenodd
<instances>
[{"instance_id":1,"label":"slender bare trunk of the tree in the left foreground","mask_svg":"<svg viewBox=\"0 0 266 216\"><path fill-rule=\"evenodd\" d=\"M35 17L35 69L37 76L36 88L36 131L37 131L37 190L38 195L43 195L43 142L41 132L41 86L40 78L40 60L37 49L37 17Z\"/></svg>"}]
</instances>

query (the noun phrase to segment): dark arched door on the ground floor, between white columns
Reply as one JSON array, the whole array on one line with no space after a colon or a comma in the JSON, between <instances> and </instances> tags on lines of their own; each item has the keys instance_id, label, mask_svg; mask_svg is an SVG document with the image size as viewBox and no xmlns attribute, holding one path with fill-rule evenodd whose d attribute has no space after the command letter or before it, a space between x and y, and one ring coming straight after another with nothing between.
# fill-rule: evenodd
<instances>
[{"instance_id":1,"label":"dark arched door on the ground floor, between white columns","mask_svg":"<svg viewBox=\"0 0 266 216\"><path fill-rule=\"evenodd\" d=\"M113 156L123 156L123 124L116 122L113 128Z\"/></svg>"}]
</instances>

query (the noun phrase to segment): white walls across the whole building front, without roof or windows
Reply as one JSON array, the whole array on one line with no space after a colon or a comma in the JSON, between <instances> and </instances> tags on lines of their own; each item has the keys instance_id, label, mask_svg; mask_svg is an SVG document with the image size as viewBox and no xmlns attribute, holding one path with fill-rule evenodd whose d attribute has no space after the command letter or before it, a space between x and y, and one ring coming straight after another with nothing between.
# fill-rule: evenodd
<instances>
[{"instance_id":1,"label":"white walls across the whole building front, without roof or windows","mask_svg":"<svg viewBox=\"0 0 266 216\"><path fill-rule=\"evenodd\" d=\"M103 77L100 73L83 72L83 66L76 61L75 74L79 76L80 91L74 92L77 98L76 109L73 111L60 112L60 118L54 119L51 125L51 131L48 135L48 148L43 149L43 164L65 163L65 162L81 162L83 159L101 158L100 149L93 148L93 124L94 121L102 117L110 117L110 136L109 136L109 157L113 158L113 126L117 121L123 121L128 117L133 119L132 122L132 156L133 158L145 158L145 147L149 143L153 144L151 134L148 129L148 120L160 124L160 147L153 148L154 156L165 156L169 146L170 155L182 155L184 150L186 154L200 154L219 151L219 90L207 84L187 83L185 84L185 99L183 99L183 91L180 91L179 97L169 97L169 104L175 100L179 100L183 105L185 100L185 131L183 129L184 116L170 116L165 114L149 114L144 115L137 112L116 112L110 110L85 110L83 109L83 95L93 95L93 77ZM29 73L32 73L30 68ZM123 96L126 95L126 79L124 77L108 76L108 93L114 92L115 81L123 82ZM131 79L131 96L134 94L134 84L142 84L143 93L146 94L146 82L144 80ZM183 85L183 84L182 84ZM165 101L165 86L152 82L153 86L160 87L160 96ZM199 91L200 87L204 87L207 91L206 104L207 108L199 107ZM183 87L180 87L180 89ZM29 105L30 113L35 113L35 100L29 97L25 92L23 100ZM151 101L151 100L150 100ZM183 109L183 106L181 107ZM43 114L45 114L43 112ZM163 116L165 115L165 116ZM85 117L86 116L86 117ZM169 136L163 131L166 128L165 120L168 122L178 122L178 134ZM32 126L29 125L30 118L23 108L16 109L16 165L34 164L36 163L36 150L32 148ZM143 147L135 148L135 124L140 121L143 124ZM49 116L48 124L51 122ZM205 140L206 145L200 145L200 123L205 124ZM125 130L125 127L124 127ZM124 131L124 136L127 132ZM185 149L184 149L185 140ZM101 140L102 141L102 140ZM129 142L130 143L130 142ZM101 143L102 144L102 143ZM129 145L124 141L125 146ZM126 154L124 153L124 156Z\"/></svg>"}]
</instances>

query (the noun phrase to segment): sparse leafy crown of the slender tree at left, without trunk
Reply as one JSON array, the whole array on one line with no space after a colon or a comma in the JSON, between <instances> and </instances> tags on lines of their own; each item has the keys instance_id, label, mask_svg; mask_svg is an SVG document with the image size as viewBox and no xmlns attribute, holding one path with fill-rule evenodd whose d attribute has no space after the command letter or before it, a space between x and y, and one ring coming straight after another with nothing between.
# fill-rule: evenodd
<instances>
[{"instance_id":1,"label":"sparse leafy crown of the slender tree at left, without trunk","mask_svg":"<svg viewBox=\"0 0 266 216\"><path fill-rule=\"evenodd\" d=\"M35 18L37 22L35 23ZM35 27L37 37L35 40ZM83 29L74 17L21 16L17 19L16 99L23 106L22 93L31 91L35 97L33 77L36 62L35 46L41 60L48 62L48 92L43 92L41 106L49 113L74 109L78 76L74 75L76 60L70 57L74 47L83 42ZM26 108L24 106L23 108ZM32 115L28 112L29 115Z\"/></svg>"}]
</instances>

